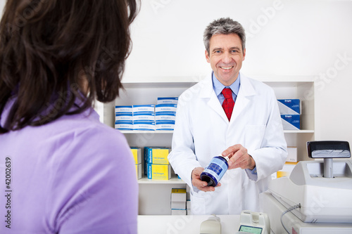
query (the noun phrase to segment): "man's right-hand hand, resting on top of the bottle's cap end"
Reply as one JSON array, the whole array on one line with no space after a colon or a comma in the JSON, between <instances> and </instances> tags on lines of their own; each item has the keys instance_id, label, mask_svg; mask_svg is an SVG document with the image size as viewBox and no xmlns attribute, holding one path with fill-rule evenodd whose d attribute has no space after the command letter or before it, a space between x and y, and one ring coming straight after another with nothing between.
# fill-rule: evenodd
<instances>
[{"instance_id":1,"label":"man's right-hand hand, resting on top of the bottle's cap end","mask_svg":"<svg viewBox=\"0 0 352 234\"><path fill-rule=\"evenodd\" d=\"M235 169L241 167L241 169L251 169L253 170L256 167L256 162L253 160L251 155L247 153L247 149L242 145L232 145L227 148L221 154L224 157L229 157L228 169Z\"/></svg>"}]
</instances>

